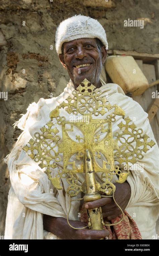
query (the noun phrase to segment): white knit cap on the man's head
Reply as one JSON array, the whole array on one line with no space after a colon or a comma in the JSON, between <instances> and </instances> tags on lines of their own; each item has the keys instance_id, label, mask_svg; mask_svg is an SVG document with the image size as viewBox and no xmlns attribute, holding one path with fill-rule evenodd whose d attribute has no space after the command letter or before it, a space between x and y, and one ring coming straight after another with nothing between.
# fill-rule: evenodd
<instances>
[{"instance_id":1,"label":"white knit cap on the man's head","mask_svg":"<svg viewBox=\"0 0 159 256\"><path fill-rule=\"evenodd\" d=\"M56 30L55 37L58 54L62 53L61 47L64 42L80 38L98 38L108 49L107 37L102 25L98 20L81 14L63 20Z\"/></svg>"}]
</instances>

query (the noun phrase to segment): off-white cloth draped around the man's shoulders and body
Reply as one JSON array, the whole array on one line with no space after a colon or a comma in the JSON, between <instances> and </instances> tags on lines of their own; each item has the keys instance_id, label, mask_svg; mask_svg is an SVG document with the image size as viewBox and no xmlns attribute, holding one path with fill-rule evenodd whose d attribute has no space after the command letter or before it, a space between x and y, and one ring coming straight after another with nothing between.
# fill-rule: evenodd
<instances>
[{"instance_id":1,"label":"off-white cloth draped around the man's shoulders and body","mask_svg":"<svg viewBox=\"0 0 159 256\"><path fill-rule=\"evenodd\" d=\"M123 90L117 84L106 84L100 79L102 94L107 96L111 105L117 104L125 111L125 117L129 116L138 128L142 128L155 143L155 138L148 120L148 114L133 99L125 96ZM6 156L8 164L11 188L8 195L8 206L5 226L5 239L59 239L54 234L43 229L43 214L66 218L69 210L69 198L62 190L56 190L47 175L45 168L41 169L28 154L22 150L31 138L35 139L34 133L41 132L40 128L49 120L49 114L68 96L72 96L74 85L70 80L64 92L58 97L51 99L41 98L38 103L32 103L27 109L27 113L15 123L15 126L23 132L18 137L11 153ZM95 91L98 89L95 89ZM69 114L63 111L63 115L68 120ZM60 113L60 115L62 115ZM96 118L99 118L96 117ZM101 117L103 118L103 117ZM112 123L113 135L121 132L117 124L122 121L122 116L116 116L116 122ZM56 122L54 122L56 124ZM62 138L60 127L59 135ZM144 154L142 160L138 160L135 165L143 164L141 170L131 171L127 181L131 188L131 197L126 207L126 211L134 218L143 239L153 239L156 236L155 226L158 218L158 146L157 143ZM61 161L57 163L58 168L62 167ZM122 168L123 166L120 166ZM54 176L58 170L52 172ZM79 175L79 184L84 179L84 173ZM101 181L100 175L96 176L97 181ZM68 186L66 179L62 178L64 190ZM81 198L79 193L76 198ZM80 220L78 217L80 201L73 201L69 219Z\"/></svg>"}]
</instances>

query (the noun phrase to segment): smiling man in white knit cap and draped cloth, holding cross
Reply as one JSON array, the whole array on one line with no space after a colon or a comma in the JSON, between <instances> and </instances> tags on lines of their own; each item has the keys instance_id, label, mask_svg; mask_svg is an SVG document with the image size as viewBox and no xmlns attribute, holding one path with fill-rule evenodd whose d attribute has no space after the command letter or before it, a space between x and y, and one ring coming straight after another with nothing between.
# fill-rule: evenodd
<instances>
[{"instance_id":1,"label":"smiling man in white knit cap and draped cloth, holding cross","mask_svg":"<svg viewBox=\"0 0 159 256\"><path fill-rule=\"evenodd\" d=\"M36 132L49 121L49 113L58 106L86 78L107 95L111 105L119 105L136 126L143 129L155 141L147 118L148 114L131 98L125 96L116 84L105 84L99 77L102 64L107 56L108 43L101 24L90 17L77 15L60 23L56 32L56 51L63 67L67 70L70 81L64 92L58 97L33 103L27 113L16 122L23 130L13 150L6 157L10 172L11 189L8 196L5 237L11 239L100 239L109 237L108 230L72 229L67 223L69 198L64 193L67 189L62 179L64 191L57 191L50 184L44 169L38 166L21 150ZM96 90L95 89L95 90ZM113 134L118 131L116 123L112 124ZM156 143L156 142L155 142ZM115 183L115 199L118 205L134 218L143 239L152 239L156 235L155 225L158 218L158 176L157 143L150 148L135 165L143 164L142 169L132 169L127 181ZM62 161L58 167L62 168ZM123 166L120 166L123 168ZM55 169L53 174L56 174ZM81 176L80 176L81 175ZM79 175L82 183L84 173ZM51 192L51 193L50 193ZM81 198L79 193L75 198ZM104 220L111 221L121 214L112 198L102 198L85 204L86 209L102 207ZM70 224L81 228L86 223L78 217L79 201L74 201L69 215ZM119 238L121 239L121 238ZM126 237L124 239L130 239Z\"/></svg>"}]
</instances>

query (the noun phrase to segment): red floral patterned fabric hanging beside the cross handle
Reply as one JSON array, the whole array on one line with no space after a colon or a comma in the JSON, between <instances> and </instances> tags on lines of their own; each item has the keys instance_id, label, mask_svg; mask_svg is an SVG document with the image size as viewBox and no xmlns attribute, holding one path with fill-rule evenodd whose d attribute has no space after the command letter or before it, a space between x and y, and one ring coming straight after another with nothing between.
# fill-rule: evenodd
<instances>
[{"instance_id":1,"label":"red floral patterned fabric hanging beside the cross handle","mask_svg":"<svg viewBox=\"0 0 159 256\"><path fill-rule=\"evenodd\" d=\"M87 218L87 210L84 207L84 204L80 207L80 213L81 213L81 221L82 222L88 222ZM122 217L122 214L114 219L109 221L104 221L105 224L109 223L116 223L120 220ZM124 218L123 220L113 226L103 226L104 229L107 229L110 233L109 239L142 239L142 236L140 234L139 228L136 224L136 222L131 218L131 216L124 211Z\"/></svg>"}]
</instances>

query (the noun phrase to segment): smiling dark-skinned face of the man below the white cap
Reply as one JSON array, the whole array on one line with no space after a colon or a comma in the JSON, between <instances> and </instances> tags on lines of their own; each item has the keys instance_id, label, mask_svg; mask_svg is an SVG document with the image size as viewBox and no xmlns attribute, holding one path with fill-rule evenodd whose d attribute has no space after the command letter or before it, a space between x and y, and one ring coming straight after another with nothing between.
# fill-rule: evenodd
<instances>
[{"instance_id":1,"label":"smiling dark-skinned face of the man below the white cap","mask_svg":"<svg viewBox=\"0 0 159 256\"><path fill-rule=\"evenodd\" d=\"M107 55L105 46L99 48L96 38L81 38L63 43L62 48L59 58L75 88L85 78L100 87L99 75Z\"/></svg>"}]
</instances>

